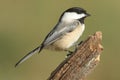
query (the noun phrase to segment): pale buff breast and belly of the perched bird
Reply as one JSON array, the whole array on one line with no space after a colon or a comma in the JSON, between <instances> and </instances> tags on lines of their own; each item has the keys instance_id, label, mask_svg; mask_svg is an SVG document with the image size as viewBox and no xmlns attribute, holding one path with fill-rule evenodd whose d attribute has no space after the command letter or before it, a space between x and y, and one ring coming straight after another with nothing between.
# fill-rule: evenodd
<instances>
[{"instance_id":1,"label":"pale buff breast and belly of the perched bird","mask_svg":"<svg viewBox=\"0 0 120 80\"><path fill-rule=\"evenodd\" d=\"M67 33L61 39L54 42L53 46L56 47L58 50L59 49L65 50L65 49L71 47L82 35L84 29L85 29L84 24L79 25L78 27L76 27L76 29L74 31Z\"/></svg>"}]
</instances>

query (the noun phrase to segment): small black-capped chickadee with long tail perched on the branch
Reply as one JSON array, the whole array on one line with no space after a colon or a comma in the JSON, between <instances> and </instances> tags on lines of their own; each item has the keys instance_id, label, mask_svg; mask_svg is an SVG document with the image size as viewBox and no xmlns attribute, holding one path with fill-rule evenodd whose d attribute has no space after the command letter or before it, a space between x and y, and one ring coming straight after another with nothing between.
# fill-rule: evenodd
<instances>
[{"instance_id":1,"label":"small black-capped chickadee with long tail perched on the branch","mask_svg":"<svg viewBox=\"0 0 120 80\"><path fill-rule=\"evenodd\" d=\"M32 55L40 53L43 49L69 51L68 48L73 46L83 34L85 30L84 20L88 16L90 16L90 14L80 7L72 7L65 10L43 42L21 58L15 64L15 67L26 61Z\"/></svg>"}]
</instances>

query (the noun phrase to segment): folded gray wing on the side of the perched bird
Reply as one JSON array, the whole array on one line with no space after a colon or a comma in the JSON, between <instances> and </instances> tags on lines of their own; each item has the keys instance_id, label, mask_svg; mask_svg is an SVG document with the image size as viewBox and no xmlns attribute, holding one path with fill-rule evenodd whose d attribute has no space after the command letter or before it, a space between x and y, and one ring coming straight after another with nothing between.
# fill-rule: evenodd
<instances>
[{"instance_id":1,"label":"folded gray wing on the side of the perched bird","mask_svg":"<svg viewBox=\"0 0 120 80\"><path fill-rule=\"evenodd\" d=\"M60 39L64 34L73 31L79 25L79 21L74 21L69 24L59 23L56 27L47 35L43 41L43 45L50 45L56 40Z\"/></svg>"}]
</instances>

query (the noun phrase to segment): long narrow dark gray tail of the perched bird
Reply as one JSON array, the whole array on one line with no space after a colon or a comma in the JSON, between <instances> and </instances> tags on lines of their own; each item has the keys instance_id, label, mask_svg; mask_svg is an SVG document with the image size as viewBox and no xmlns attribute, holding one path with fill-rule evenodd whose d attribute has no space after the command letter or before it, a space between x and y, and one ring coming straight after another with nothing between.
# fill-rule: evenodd
<instances>
[{"instance_id":1,"label":"long narrow dark gray tail of the perched bird","mask_svg":"<svg viewBox=\"0 0 120 80\"><path fill-rule=\"evenodd\" d=\"M40 52L42 50L42 46L39 46L37 48L35 48L34 50L32 50L31 52L29 52L28 54L26 54L23 58L21 58L16 64L15 67L17 67L19 64L23 63L25 60L27 60L28 58L30 58L32 55Z\"/></svg>"}]
</instances>

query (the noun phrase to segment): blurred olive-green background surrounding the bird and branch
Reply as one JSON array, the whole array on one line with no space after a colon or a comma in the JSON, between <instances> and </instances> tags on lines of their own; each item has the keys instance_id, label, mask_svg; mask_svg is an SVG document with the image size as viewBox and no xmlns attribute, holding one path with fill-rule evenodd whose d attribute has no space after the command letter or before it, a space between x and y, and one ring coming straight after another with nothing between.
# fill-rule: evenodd
<instances>
[{"instance_id":1,"label":"blurred olive-green background surrounding the bird and branch","mask_svg":"<svg viewBox=\"0 0 120 80\"><path fill-rule=\"evenodd\" d=\"M0 0L0 80L46 80L65 52L43 50L14 65L40 45L64 10L74 6L92 15L85 20L80 40L103 32L101 62L86 80L120 80L120 0Z\"/></svg>"}]
</instances>

